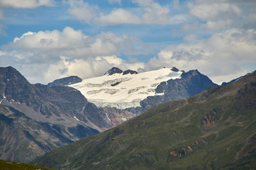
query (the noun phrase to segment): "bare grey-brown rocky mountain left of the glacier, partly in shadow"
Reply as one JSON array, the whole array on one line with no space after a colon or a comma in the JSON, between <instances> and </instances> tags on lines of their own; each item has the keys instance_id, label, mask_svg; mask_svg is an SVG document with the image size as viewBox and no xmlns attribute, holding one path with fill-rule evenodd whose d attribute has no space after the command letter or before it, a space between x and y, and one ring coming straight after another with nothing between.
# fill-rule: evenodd
<instances>
[{"instance_id":1,"label":"bare grey-brown rocky mountain left of the glacier, partly in shadow","mask_svg":"<svg viewBox=\"0 0 256 170\"><path fill-rule=\"evenodd\" d=\"M112 126L78 90L34 85L13 67L0 67L0 159L29 162Z\"/></svg>"}]
</instances>

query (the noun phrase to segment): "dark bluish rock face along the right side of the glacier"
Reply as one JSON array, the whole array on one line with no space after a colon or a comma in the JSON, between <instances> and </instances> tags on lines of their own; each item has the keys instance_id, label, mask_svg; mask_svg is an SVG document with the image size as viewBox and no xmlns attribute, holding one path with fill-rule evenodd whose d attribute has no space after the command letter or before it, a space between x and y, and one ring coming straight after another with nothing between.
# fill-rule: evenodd
<instances>
[{"instance_id":1,"label":"dark bluish rock face along the right side of the glacier","mask_svg":"<svg viewBox=\"0 0 256 170\"><path fill-rule=\"evenodd\" d=\"M181 74L180 79L171 79L160 83L156 87L156 93L163 93L164 95L147 97L147 99L140 102L141 110L146 111L153 106L168 101L186 99L215 85L215 83L204 74L201 74L197 69L188 71L187 73L184 72Z\"/></svg>"}]
</instances>

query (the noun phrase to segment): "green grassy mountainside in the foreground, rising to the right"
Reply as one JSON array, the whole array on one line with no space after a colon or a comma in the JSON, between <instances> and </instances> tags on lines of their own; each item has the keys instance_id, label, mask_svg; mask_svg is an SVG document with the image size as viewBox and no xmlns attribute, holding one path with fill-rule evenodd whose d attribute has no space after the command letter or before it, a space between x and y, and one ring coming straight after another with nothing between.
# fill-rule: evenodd
<instances>
[{"instance_id":1,"label":"green grassy mountainside in the foreground, rising to the right","mask_svg":"<svg viewBox=\"0 0 256 170\"><path fill-rule=\"evenodd\" d=\"M256 169L256 72L33 161L56 169Z\"/></svg>"}]
</instances>

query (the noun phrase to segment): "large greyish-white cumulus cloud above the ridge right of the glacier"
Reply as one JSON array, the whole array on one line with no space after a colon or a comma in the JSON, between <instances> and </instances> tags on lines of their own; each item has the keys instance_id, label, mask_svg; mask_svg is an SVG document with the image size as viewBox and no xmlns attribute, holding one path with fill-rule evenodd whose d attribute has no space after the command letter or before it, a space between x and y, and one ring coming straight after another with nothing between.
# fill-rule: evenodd
<instances>
[{"instance_id":1,"label":"large greyish-white cumulus cloud above the ridge right of the glacier","mask_svg":"<svg viewBox=\"0 0 256 170\"><path fill-rule=\"evenodd\" d=\"M256 66L256 31L231 29L207 39L189 39L168 46L150 59L148 68L175 66L186 71L198 69L221 83L246 74L244 64Z\"/></svg>"}]
</instances>

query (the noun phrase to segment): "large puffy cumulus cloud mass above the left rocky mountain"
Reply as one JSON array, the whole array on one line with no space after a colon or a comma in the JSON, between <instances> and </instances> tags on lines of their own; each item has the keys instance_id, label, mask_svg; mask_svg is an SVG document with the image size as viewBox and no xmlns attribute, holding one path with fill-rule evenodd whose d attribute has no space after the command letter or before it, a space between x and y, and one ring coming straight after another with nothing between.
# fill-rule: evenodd
<instances>
[{"instance_id":1,"label":"large puffy cumulus cloud mass above the left rocky mountain","mask_svg":"<svg viewBox=\"0 0 256 170\"><path fill-rule=\"evenodd\" d=\"M145 67L143 63L127 62L117 56L145 54L151 49L135 37L116 36L113 32L90 37L65 27L63 31L24 33L2 46L0 62L2 66L16 67L32 83L47 83L70 75L100 76L112 66L138 70Z\"/></svg>"}]
</instances>

